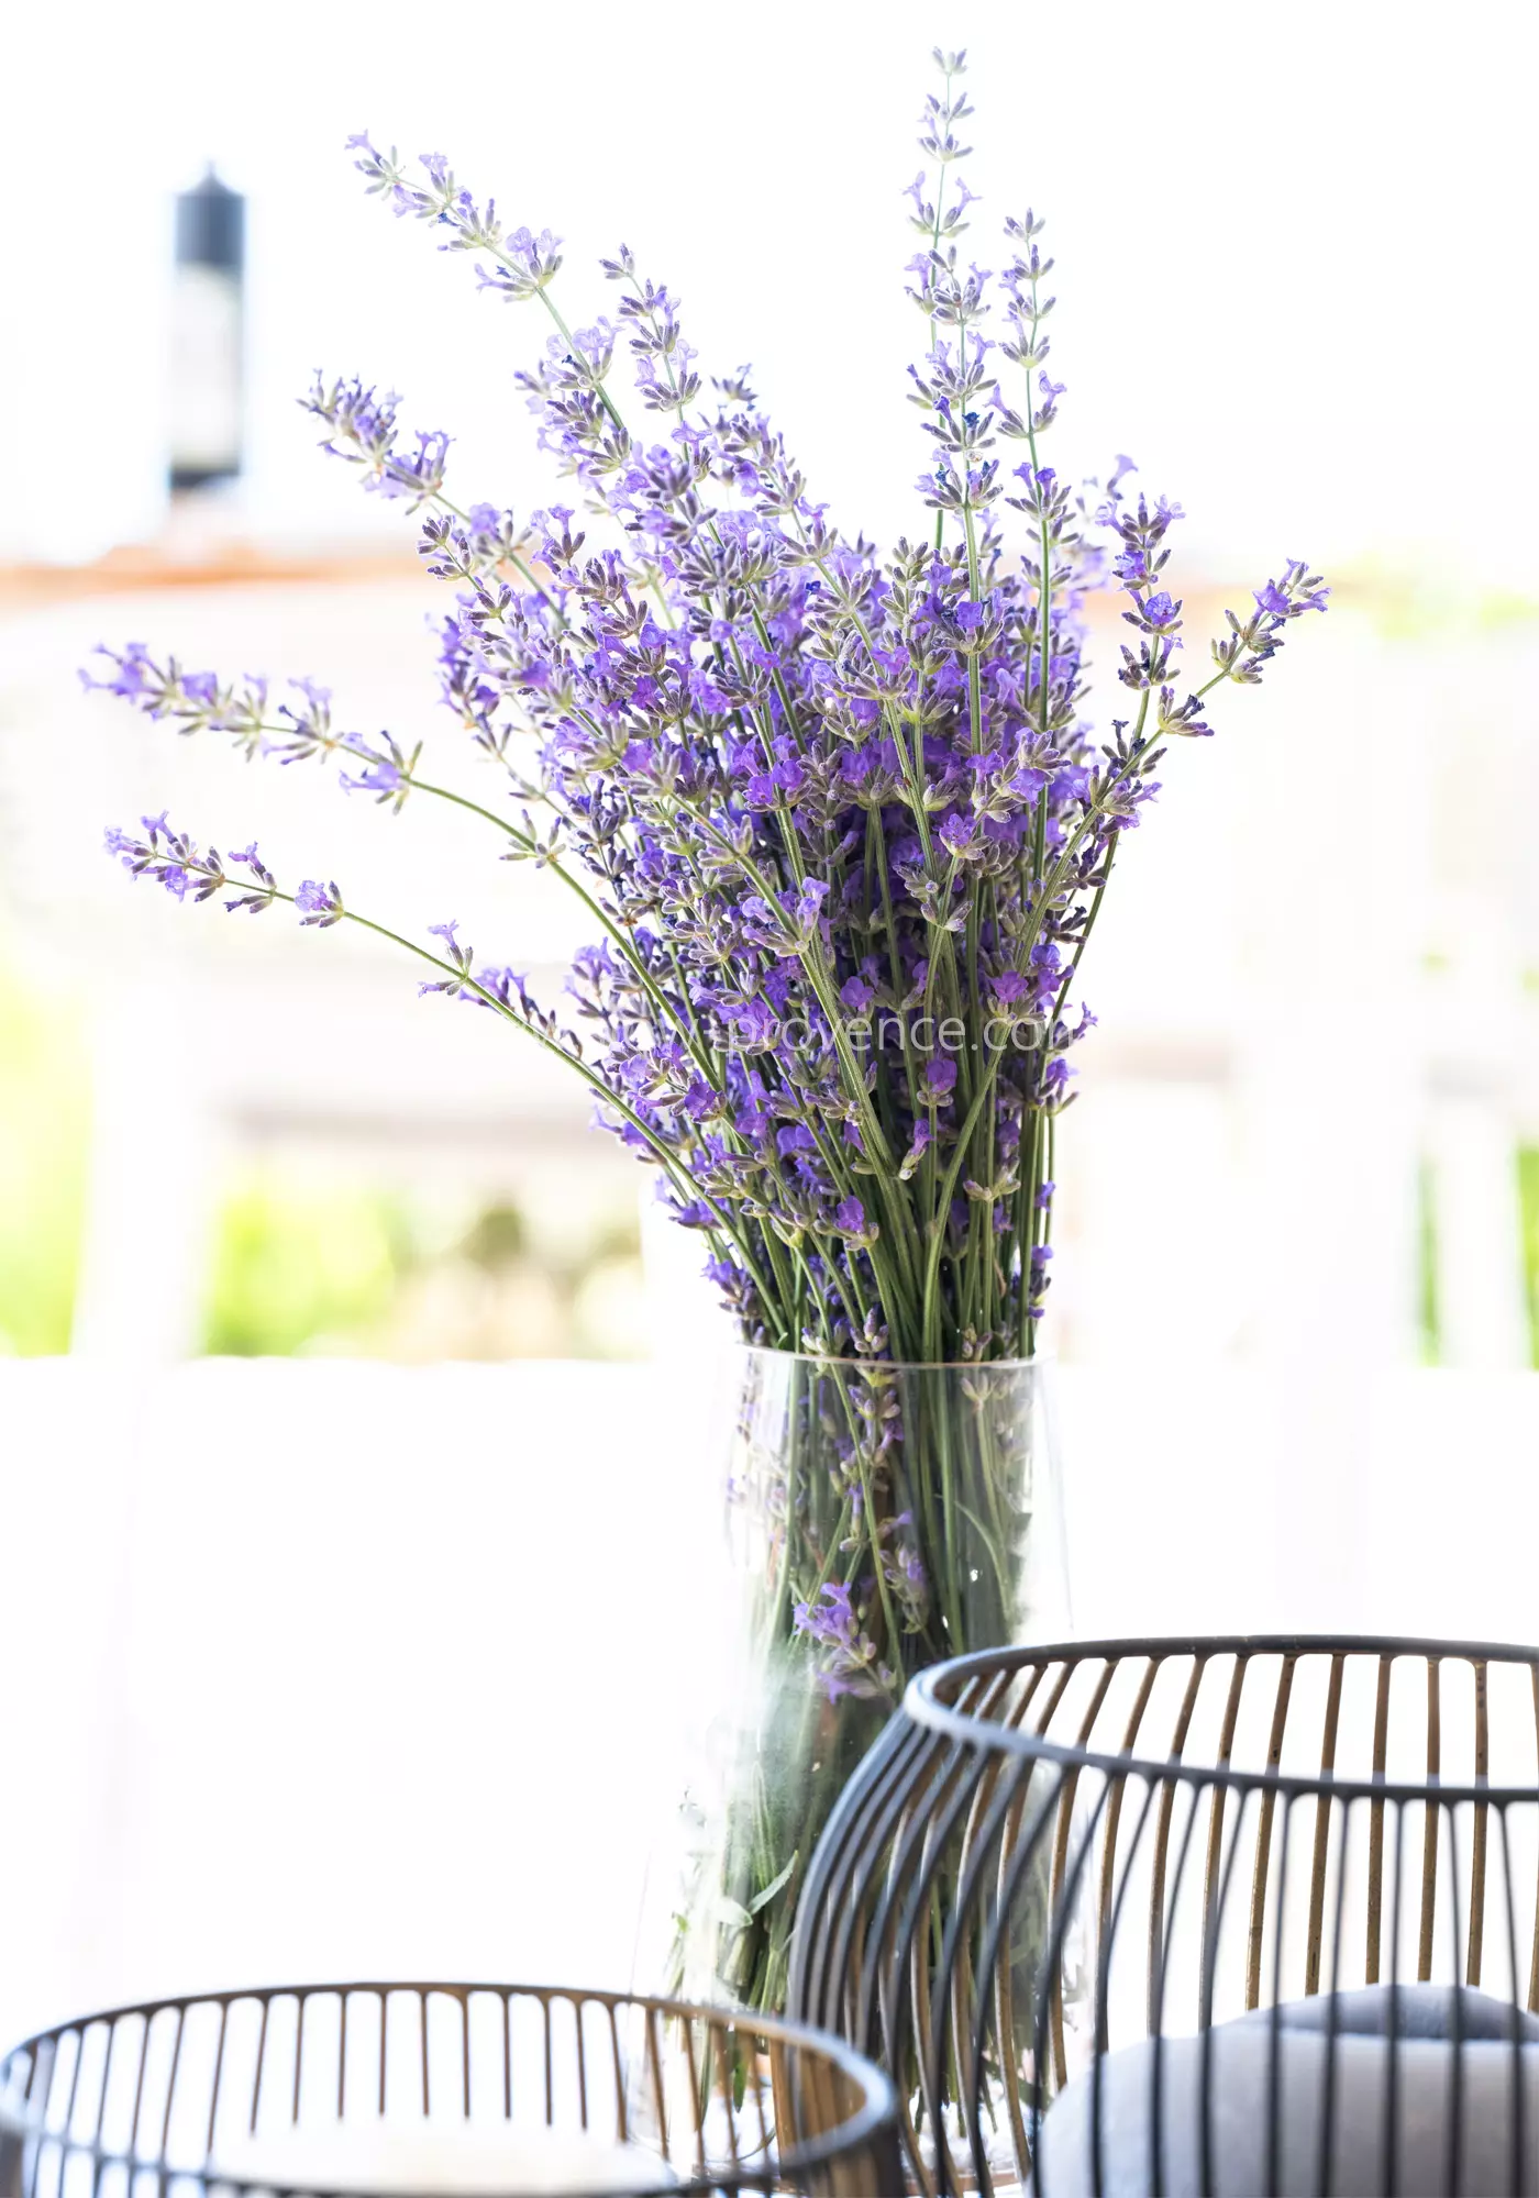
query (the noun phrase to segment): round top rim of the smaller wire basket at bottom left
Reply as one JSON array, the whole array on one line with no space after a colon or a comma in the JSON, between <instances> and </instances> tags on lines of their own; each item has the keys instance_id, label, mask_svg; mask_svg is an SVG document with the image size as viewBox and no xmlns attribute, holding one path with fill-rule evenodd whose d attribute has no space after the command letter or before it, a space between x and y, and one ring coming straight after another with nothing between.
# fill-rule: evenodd
<instances>
[{"instance_id":1,"label":"round top rim of the smaller wire basket at bottom left","mask_svg":"<svg viewBox=\"0 0 1539 2198\"><path fill-rule=\"evenodd\" d=\"M389 1998L391 1994L409 1994L420 1998L427 2007L431 1996L460 2000L466 2009L473 1996L486 1994L499 2000L530 1998L550 2005L552 2000L565 2000L574 2009L585 2005L607 2007L611 2013L618 2009L635 2007L642 2013L660 2016L662 2020L704 2020L723 2022L728 2027L741 2027L752 2031L772 2044L813 2049L827 2062L831 2062L840 2075L849 2077L862 2090L862 2106L840 2121L833 2130L824 2130L820 2136L807 2139L805 2143L789 2145L785 2152L774 2156L774 2176L778 2180L798 2176L807 2169L820 2169L827 2165L838 2165L846 2154L857 2154L864 2145L871 2145L884 2130L897 2132L897 2086L877 2062L857 2053L844 2038L833 2031L813 2027L811 2022L796 2022L789 2016L761 2016L748 2007L726 2007L710 2005L704 2000L673 2000L664 1994L651 1991L622 1991L609 1985L536 1985L536 1983L488 1983L470 1978L352 1978L347 1983L321 1980L321 1983L290 1983L290 1985L235 1985L226 1989L207 1991L182 1991L163 1994L152 2000L125 2000L121 2007L99 2007L88 2016L70 2016L64 2022L53 2022L31 2038L22 2038L18 2044L0 2051L0 2075L13 2068L13 2064L29 2055L35 2066L35 2055L44 2046L57 2046L59 2040L70 2033L84 2040L86 2031L101 2024L125 2022L141 2016L145 2022L154 2022L158 2016L178 2013L185 2016L193 2007L220 2007L229 2011L242 2000L273 2002L273 2000L319 2000L319 1998L350 1998L352 1994L369 1994L374 1998ZM46 2141L59 2145L70 2156L92 2158L103 2167L125 2167L136 2174L143 2172L165 2172L167 2178L187 2180L189 2185L202 2183L207 2189L262 2189L273 2191L273 2198L378 2198L367 2185L279 2185L268 2178L262 2183L242 2183L240 2176L209 2174L209 2163L204 2167L169 2167L163 2156L154 2152L112 2152L88 2139L73 2139L64 2130L48 2130L35 2112L29 2112L26 2097L4 2099L9 2119L4 2128L13 2136L26 2141ZM635 2198L697 2198L697 2194L719 2191L721 2180L732 2180L732 2172L726 2163L717 2163L715 2169L706 2169L701 2176L695 2172L688 2178L675 2178L673 2183L657 2183L651 2187L640 2185ZM741 2183L745 2189L754 2189L769 2169L743 2167ZM778 2185L776 2185L778 2187ZM391 2198L442 2198L435 2191L391 2191ZM521 2198L519 2191L508 2191L506 2198Z\"/></svg>"}]
</instances>

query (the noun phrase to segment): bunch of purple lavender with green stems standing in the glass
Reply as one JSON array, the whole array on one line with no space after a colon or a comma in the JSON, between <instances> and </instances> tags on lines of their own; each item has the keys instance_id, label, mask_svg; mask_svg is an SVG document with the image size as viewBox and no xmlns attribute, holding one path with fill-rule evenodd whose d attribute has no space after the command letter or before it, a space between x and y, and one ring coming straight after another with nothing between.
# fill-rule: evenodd
<instances>
[{"instance_id":1,"label":"bunch of purple lavender with green stems standing in the glass","mask_svg":"<svg viewBox=\"0 0 1539 2198\"><path fill-rule=\"evenodd\" d=\"M1253 686L1326 602L1288 560L1227 613L1205 677L1176 679L1181 510L1132 495L1126 457L1093 481L1049 464L1064 387L1042 222L1005 222L998 275L963 257L972 110L963 55L937 64L908 187L928 448L912 539L884 554L835 525L748 374L699 371L677 301L627 246L602 262L611 317L572 328L550 231L508 229L438 154L409 171L358 136L367 189L547 328L519 380L569 501L528 517L453 501L449 437L405 431L394 396L317 380L303 400L323 448L420 519L420 552L451 582L442 697L484 758L486 800L433 782L420 747L341 728L310 679L275 706L264 679L130 644L103 651L95 681L246 758L334 761L391 813L455 802L501 859L583 901L594 943L554 1004L453 921L402 939L336 881L290 888L255 846L222 853L165 815L108 833L178 899L367 925L427 965L422 991L561 1055L699 1231L743 1339L855 1365L818 1486L780 1488L765 1602L824 1703L882 1706L912 1668L1007 1622L1000 1583L994 1620L963 1624L963 1495L912 1424L904 1448L890 1369L1033 1354L1055 1125L1093 1022L1075 980L1119 844L1167 743L1207 736L1209 695ZM1084 611L1104 587L1130 631L1126 717L1097 741ZM974 1490L970 1510L989 1501ZM732 1978L756 2002L783 1976L763 1910L783 1895L789 1917L818 1813L756 1818L739 1912L763 1943Z\"/></svg>"}]
</instances>

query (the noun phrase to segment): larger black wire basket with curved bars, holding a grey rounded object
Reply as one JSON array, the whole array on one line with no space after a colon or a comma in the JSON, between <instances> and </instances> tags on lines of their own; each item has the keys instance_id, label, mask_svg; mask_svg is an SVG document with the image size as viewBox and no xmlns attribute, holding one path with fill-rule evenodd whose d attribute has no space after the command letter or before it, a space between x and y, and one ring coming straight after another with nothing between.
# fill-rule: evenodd
<instances>
[{"instance_id":1,"label":"larger black wire basket with curved bars, holding a grey rounded object","mask_svg":"<svg viewBox=\"0 0 1539 2198\"><path fill-rule=\"evenodd\" d=\"M1539 2194L1539 1651L1216 1638L915 1679L794 2018L923 2191Z\"/></svg>"}]
</instances>

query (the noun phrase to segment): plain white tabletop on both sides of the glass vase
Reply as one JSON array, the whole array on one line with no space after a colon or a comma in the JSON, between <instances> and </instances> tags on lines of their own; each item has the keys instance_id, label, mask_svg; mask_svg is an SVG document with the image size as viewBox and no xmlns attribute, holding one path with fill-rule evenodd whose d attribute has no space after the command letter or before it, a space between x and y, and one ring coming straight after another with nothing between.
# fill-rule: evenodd
<instances>
[{"instance_id":1,"label":"plain white tabletop on both sides of the glass vase","mask_svg":"<svg viewBox=\"0 0 1539 2198\"><path fill-rule=\"evenodd\" d=\"M712 1653L710 1394L0 1365L0 2035L229 1983L627 1983ZM1079 1633L1539 1631L1539 1376L1060 1396Z\"/></svg>"}]
</instances>

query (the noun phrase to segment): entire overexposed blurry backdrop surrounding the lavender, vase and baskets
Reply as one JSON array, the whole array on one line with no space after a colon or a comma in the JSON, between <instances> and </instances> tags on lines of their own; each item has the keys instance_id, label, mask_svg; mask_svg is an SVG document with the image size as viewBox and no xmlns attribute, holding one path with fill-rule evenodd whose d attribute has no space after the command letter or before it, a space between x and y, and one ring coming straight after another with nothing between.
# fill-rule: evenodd
<instances>
[{"instance_id":1,"label":"entire overexposed blurry backdrop surrounding the lavender, vase and baskets","mask_svg":"<svg viewBox=\"0 0 1539 2198\"><path fill-rule=\"evenodd\" d=\"M1198 646L1286 556L1335 589L1170 758L1086 958L1051 1303L1079 1627L1532 1635L1532 18L33 9L0 88L7 2031L284 1967L624 1967L611 1827L666 1800L704 1561L695 1242L490 1018L358 936L134 890L101 829L257 837L547 987L580 930L475 820L246 769L77 666L312 675L475 791L411 521L295 398L398 389L453 492L528 510L541 328L365 198L354 130L554 226L574 317L629 242L840 519L912 528L937 40L976 257L1049 218L1055 462L1183 501ZM576 1939L523 1897L541 1765L605 1886Z\"/></svg>"}]
</instances>

